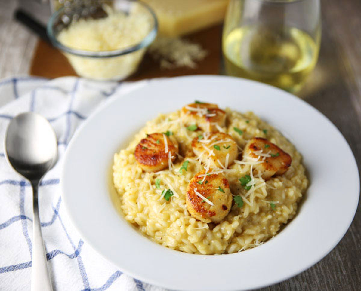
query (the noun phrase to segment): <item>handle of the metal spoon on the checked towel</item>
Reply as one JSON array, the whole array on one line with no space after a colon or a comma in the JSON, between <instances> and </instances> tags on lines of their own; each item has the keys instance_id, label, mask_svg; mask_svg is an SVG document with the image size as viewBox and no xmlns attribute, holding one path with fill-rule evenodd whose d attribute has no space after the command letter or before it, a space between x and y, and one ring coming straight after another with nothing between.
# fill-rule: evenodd
<instances>
[{"instance_id":1,"label":"handle of the metal spoon on the checked towel","mask_svg":"<svg viewBox=\"0 0 361 291\"><path fill-rule=\"evenodd\" d=\"M31 182L33 191L33 220L32 220L32 262L31 262L31 291L52 291L47 268L47 259L40 227L38 207L38 183Z\"/></svg>"}]
</instances>

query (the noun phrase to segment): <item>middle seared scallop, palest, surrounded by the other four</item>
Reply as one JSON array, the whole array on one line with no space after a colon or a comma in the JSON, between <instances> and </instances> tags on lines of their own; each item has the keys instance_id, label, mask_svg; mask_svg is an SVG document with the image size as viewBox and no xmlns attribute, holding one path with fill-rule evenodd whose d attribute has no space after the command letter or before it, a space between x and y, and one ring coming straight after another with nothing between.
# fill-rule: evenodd
<instances>
[{"instance_id":1,"label":"middle seared scallop, palest, surrounded by the other four","mask_svg":"<svg viewBox=\"0 0 361 291\"><path fill-rule=\"evenodd\" d=\"M217 132L192 140L193 152L211 168L227 168L238 155L237 144L230 135Z\"/></svg>"}]
</instances>

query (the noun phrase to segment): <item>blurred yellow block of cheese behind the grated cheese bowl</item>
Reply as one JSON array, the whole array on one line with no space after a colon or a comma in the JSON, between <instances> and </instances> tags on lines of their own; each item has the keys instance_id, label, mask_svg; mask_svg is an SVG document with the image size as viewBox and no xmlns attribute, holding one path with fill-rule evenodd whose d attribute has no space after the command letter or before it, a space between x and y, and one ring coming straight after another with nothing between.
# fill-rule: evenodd
<instances>
[{"instance_id":1,"label":"blurred yellow block of cheese behind the grated cheese bowl","mask_svg":"<svg viewBox=\"0 0 361 291\"><path fill-rule=\"evenodd\" d=\"M155 11L162 36L180 36L221 23L229 0L143 0Z\"/></svg>"}]
</instances>

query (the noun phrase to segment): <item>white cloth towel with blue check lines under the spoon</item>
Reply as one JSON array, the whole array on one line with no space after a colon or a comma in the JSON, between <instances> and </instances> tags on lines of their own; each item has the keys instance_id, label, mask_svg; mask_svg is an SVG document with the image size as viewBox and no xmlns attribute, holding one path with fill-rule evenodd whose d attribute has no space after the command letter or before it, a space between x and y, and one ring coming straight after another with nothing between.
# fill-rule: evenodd
<instances>
[{"instance_id":1,"label":"white cloth towel with blue check lines under the spoon","mask_svg":"<svg viewBox=\"0 0 361 291\"><path fill-rule=\"evenodd\" d=\"M39 211L54 290L164 290L123 274L85 243L64 209L62 158L77 127L105 102L143 82L96 82L75 77L0 80L0 290L30 290L32 191L5 160L4 136L13 116L42 114L58 138L58 162L39 187Z\"/></svg>"}]
</instances>

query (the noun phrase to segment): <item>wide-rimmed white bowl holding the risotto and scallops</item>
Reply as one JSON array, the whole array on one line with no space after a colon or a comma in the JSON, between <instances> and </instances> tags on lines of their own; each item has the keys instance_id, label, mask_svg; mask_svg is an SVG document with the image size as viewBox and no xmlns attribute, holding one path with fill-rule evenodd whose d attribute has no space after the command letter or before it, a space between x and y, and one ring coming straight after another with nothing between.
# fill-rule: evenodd
<instances>
[{"instance_id":1,"label":"wide-rimmed white bowl holding the risotto and scallops","mask_svg":"<svg viewBox=\"0 0 361 291\"><path fill-rule=\"evenodd\" d=\"M147 120L195 99L254 111L303 155L310 186L298 214L261 246L227 255L174 251L138 233L110 200L113 154ZM279 89L223 76L153 80L109 100L71 140L61 185L65 206L83 238L123 272L170 289L208 291L271 285L317 263L347 231L360 190L351 149L319 111Z\"/></svg>"}]
</instances>

